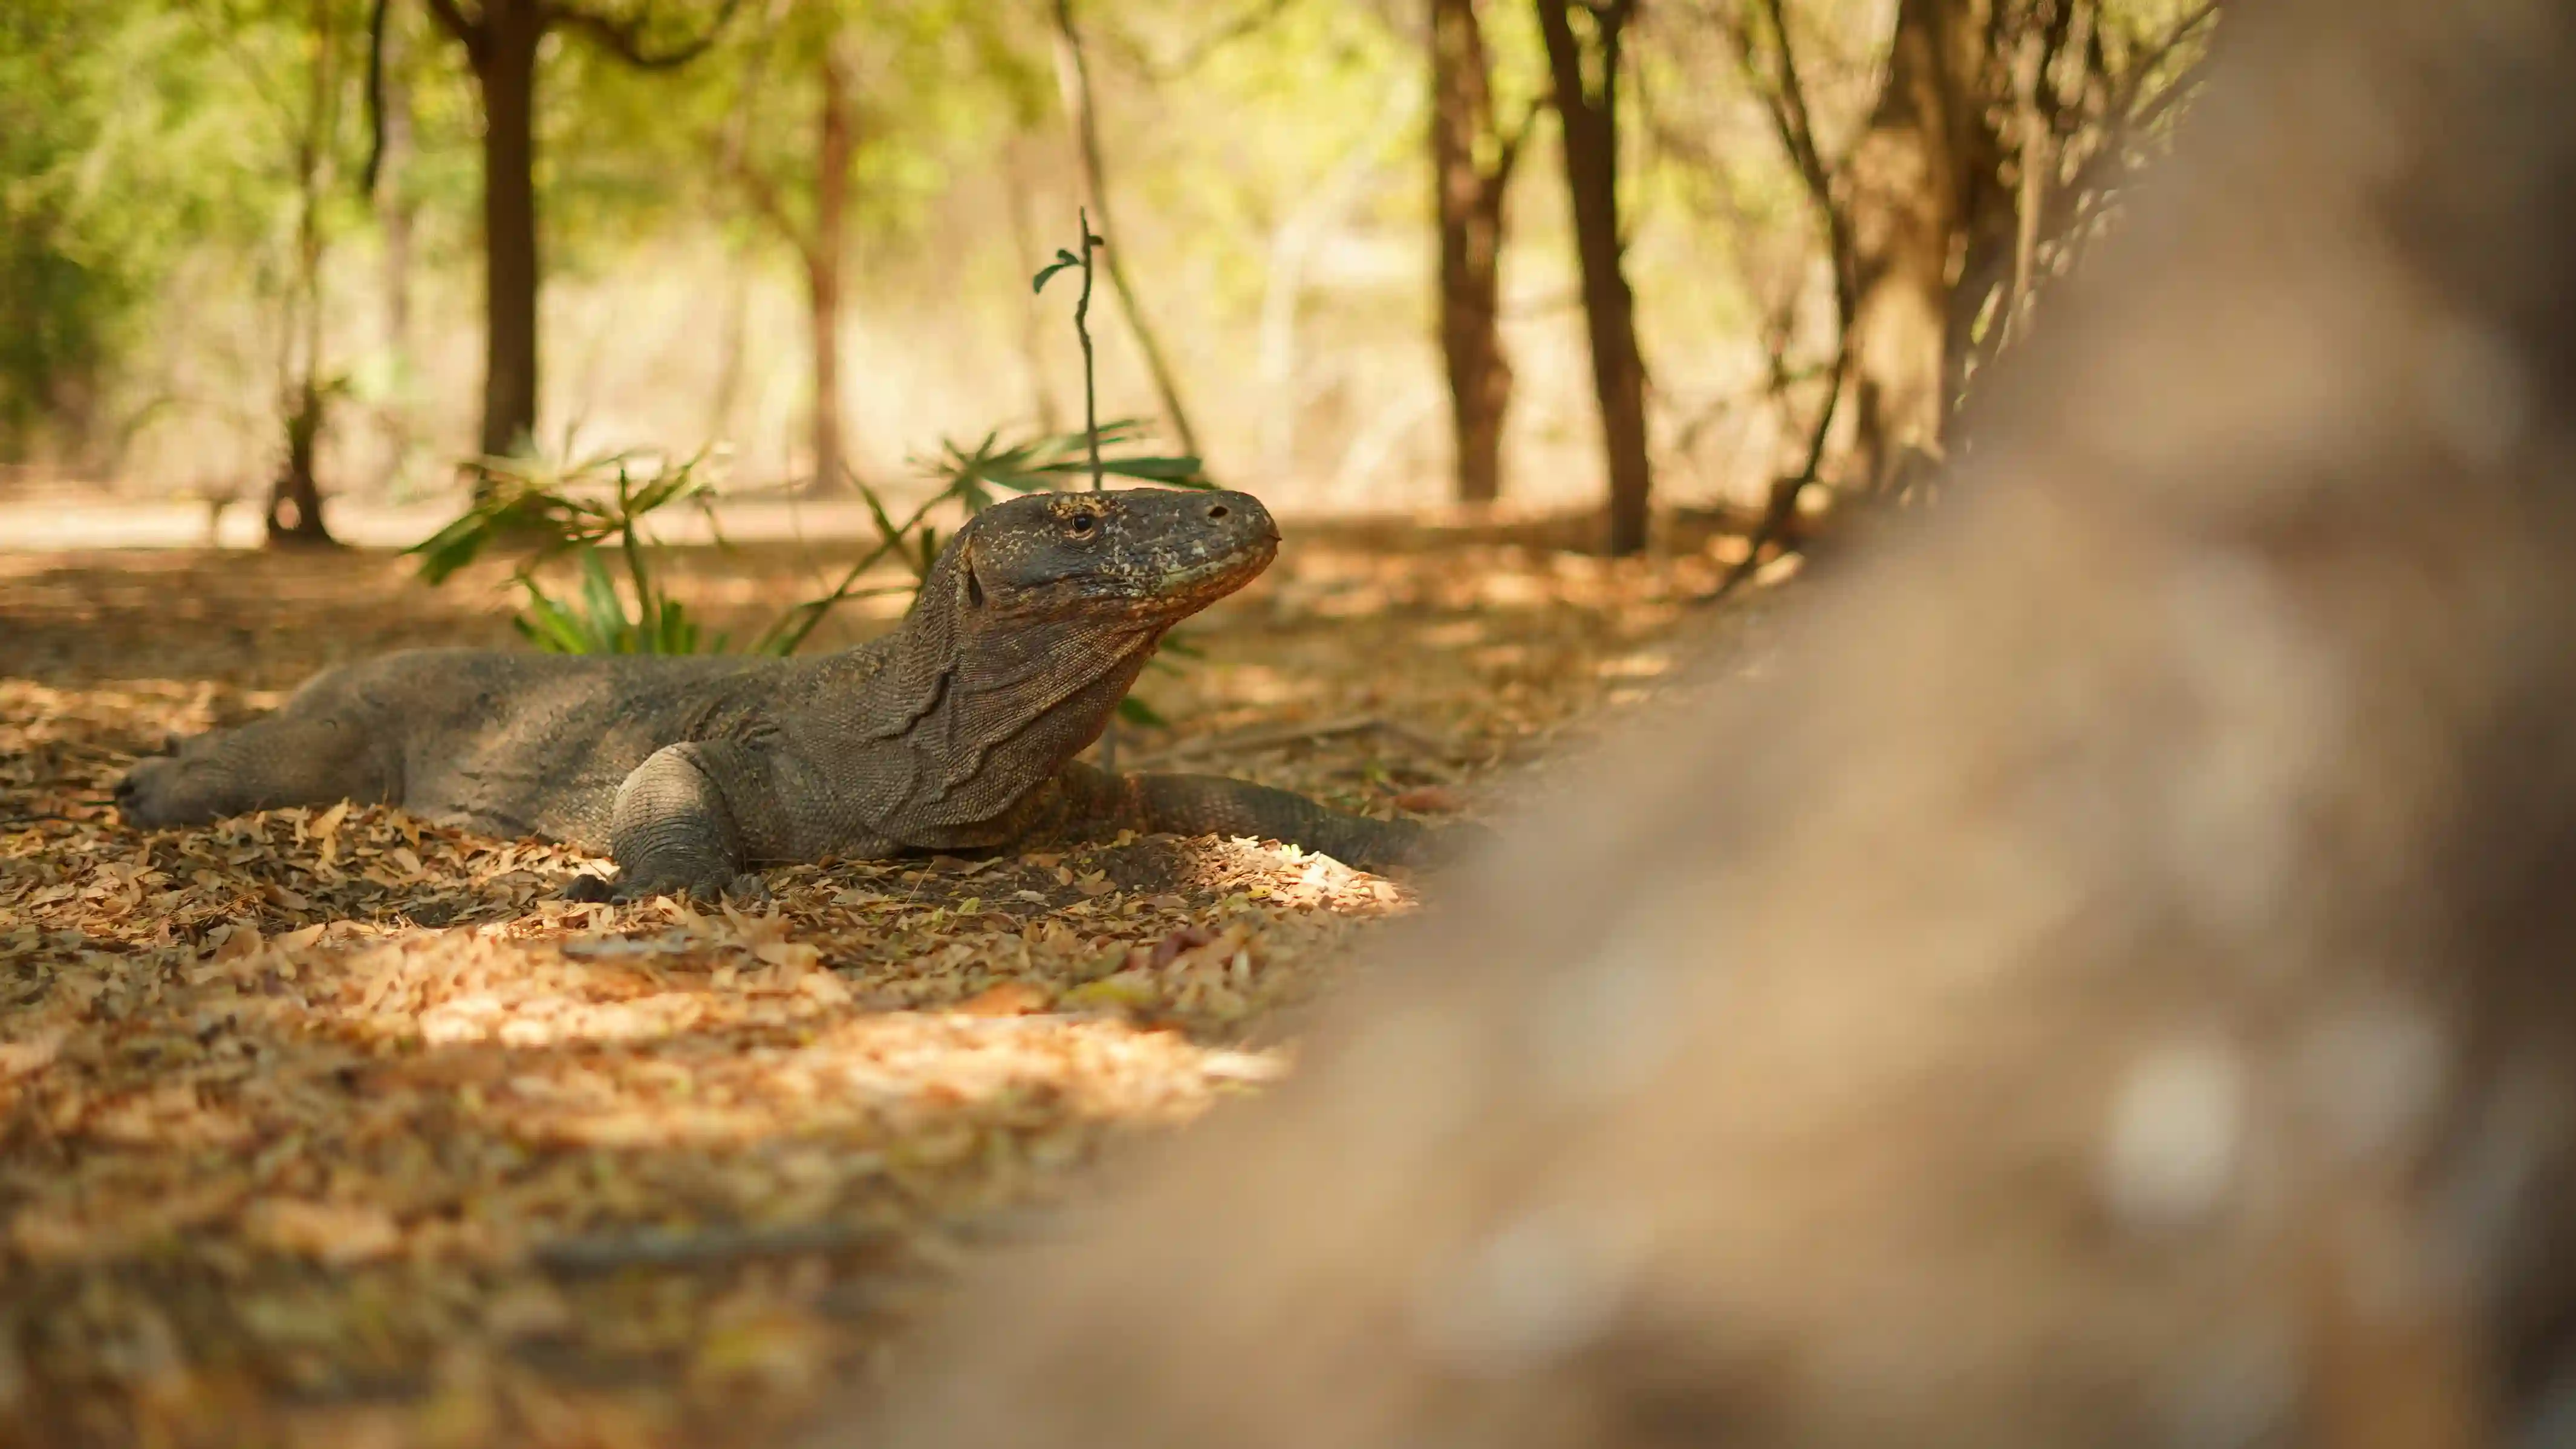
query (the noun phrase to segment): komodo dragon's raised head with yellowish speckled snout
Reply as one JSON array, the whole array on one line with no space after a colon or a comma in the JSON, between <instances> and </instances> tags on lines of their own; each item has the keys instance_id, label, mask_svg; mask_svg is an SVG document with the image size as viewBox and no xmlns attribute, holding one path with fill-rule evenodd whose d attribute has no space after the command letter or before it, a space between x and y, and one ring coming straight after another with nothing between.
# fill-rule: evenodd
<instances>
[{"instance_id":1,"label":"komodo dragon's raised head with yellowish speckled snout","mask_svg":"<svg viewBox=\"0 0 2576 1449\"><path fill-rule=\"evenodd\" d=\"M933 585L945 588L961 621L1084 616L1154 627L1252 583L1278 547L1278 523L1249 492L1033 492L976 513L951 539Z\"/></svg>"}]
</instances>

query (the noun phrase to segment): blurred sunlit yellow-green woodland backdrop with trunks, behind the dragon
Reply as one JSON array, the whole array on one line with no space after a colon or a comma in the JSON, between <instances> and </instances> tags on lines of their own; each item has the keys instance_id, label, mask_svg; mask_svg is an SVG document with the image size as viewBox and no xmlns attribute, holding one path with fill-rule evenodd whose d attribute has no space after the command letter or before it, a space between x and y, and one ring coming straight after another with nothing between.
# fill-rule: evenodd
<instances>
[{"instance_id":1,"label":"blurred sunlit yellow-green woodland backdrop with trunks, behind the dragon","mask_svg":"<svg viewBox=\"0 0 2576 1449\"><path fill-rule=\"evenodd\" d=\"M1054 0L384 0L374 196L371 10L0 5L0 464L237 492L307 425L332 490L386 495L580 431L829 485L1064 423L1072 340L1028 297L1090 188ZM2187 0L1069 13L1113 245L1213 472L1314 505L1618 474L1618 547L1649 472L1785 518L1937 459L2213 28ZM1597 101L1571 157L1566 95ZM1157 413L1105 322L1105 407Z\"/></svg>"}]
</instances>

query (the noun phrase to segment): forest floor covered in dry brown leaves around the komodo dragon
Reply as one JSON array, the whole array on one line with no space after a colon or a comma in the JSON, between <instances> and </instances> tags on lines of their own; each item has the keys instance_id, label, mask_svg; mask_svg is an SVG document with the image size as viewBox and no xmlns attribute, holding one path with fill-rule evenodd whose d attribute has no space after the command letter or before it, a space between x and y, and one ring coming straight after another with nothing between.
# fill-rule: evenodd
<instances>
[{"instance_id":1,"label":"forest floor covered in dry brown leaves around the komodo dragon","mask_svg":"<svg viewBox=\"0 0 2576 1449\"><path fill-rule=\"evenodd\" d=\"M1566 529L1293 529L1118 763L1378 815L1546 789L1762 614L1690 603L1726 539ZM688 549L677 593L750 632L829 552ZM775 1441L1103 1150L1283 1075L1283 1011L1414 908L1175 838L567 905L598 861L394 810L100 804L330 663L515 645L507 608L500 565L384 552L0 554L0 1444Z\"/></svg>"}]
</instances>

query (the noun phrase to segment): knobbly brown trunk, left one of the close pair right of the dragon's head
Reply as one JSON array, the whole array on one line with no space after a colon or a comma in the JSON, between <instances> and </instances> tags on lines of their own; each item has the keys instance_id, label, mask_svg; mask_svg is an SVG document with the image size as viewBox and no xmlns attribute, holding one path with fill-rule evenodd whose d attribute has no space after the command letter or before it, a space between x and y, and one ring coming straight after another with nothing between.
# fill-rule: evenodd
<instances>
[{"instance_id":1,"label":"knobbly brown trunk, left one of the close pair right of the dragon's head","mask_svg":"<svg viewBox=\"0 0 2576 1449\"><path fill-rule=\"evenodd\" d=\"M1479 152L1494 147L1492 160ZM1450 382L1458 500L1502 498L1502 423L1512 364L1502 351L1502 201L1517 137L1494 126L1492 67L1476 0L1432 0L1432 186L1440 209L1440 356Z\"/></svg>"}]
</instances>

